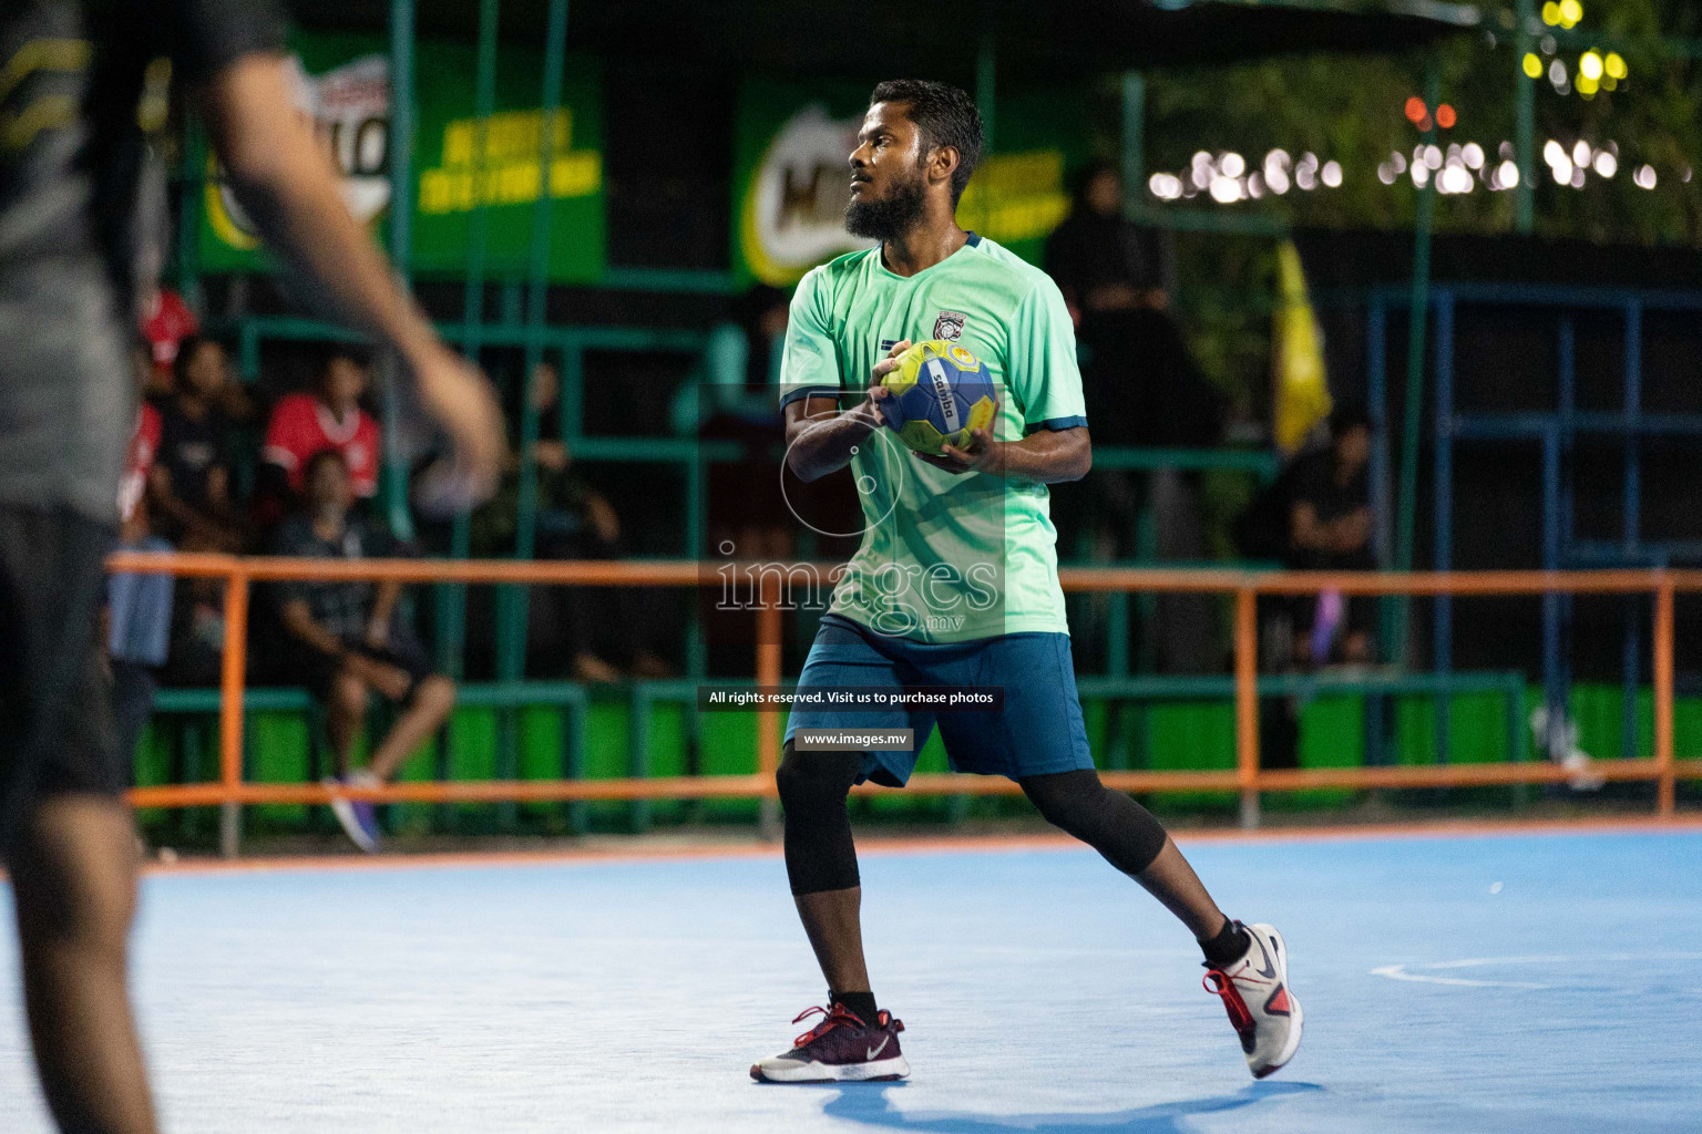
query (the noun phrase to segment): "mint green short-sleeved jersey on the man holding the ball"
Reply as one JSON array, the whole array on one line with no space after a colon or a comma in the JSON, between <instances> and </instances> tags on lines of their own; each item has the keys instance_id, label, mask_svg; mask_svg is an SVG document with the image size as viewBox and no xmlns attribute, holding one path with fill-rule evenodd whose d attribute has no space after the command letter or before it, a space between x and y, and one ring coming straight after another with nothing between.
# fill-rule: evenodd
<instances>
[{"instance_id":1,"label":"mint green short-sleeved jersey on the man holding the ball","mask_svg":"<svg viewBox=\"0 0 1702 1134\"><path fill-rule=\"evenodd\" d=\"M999 393L999 440L1088 423L1057 284L974 233L911 277L887 270L880 248L810 270L791 299L781 405L856 405L904 338L950 340L980 359ZM887 428L858 445L851 473L863 542L834 588L834 614L926 643L1069 632L1045 485L936 469Z\"/></svg>"}]
</instances>

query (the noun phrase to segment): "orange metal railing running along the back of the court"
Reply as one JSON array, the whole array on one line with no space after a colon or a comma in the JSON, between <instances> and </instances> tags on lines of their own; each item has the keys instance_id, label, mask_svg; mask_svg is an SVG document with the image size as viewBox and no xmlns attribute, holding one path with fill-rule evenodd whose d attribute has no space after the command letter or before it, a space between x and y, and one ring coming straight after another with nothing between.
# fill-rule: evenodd
<instances>
[{"instance_id":1,"label":"orange metal railing running along the back of the court","mask_svg":"<svg viewBox=\"0 0 1702 1134\"><path fill-rule=\"evenodd\" d=\"M722 563L696 561L444 561L444 559L279 559L216 554L138 554L111 558L112 570L172 573L225 580L225 634L230 644L245 644L248 592L254 583L277 580L395 580L403 583L524 583L555 587L700 587L720 585ZM831 571L836 564L812 564ZM1476 787L1491 784L1564 782L1569 772L1547 762L1452 763L1421 767L1348 768L1261 768L1258 729L1258 617L1259 595L1304 595L1334 588L1348 595L1637 595L1654 598L1654 755L1653 758L1603 760L1595 774L1610 780L1653 780L1656 806L1670 816L1678 779L1702 779L1702 760L1673 758L1673 600L1678 592L1702 592L1702 571L1459 571L1459 573L1241 573L1166 571L1122 568L1064 568L1060 581L1069 592L1171 592L1225 593L1234 597L1234 700L1236 767L1202 772L1103 772L1101 779L1120 791L1234 791L1241 794L1242 816L1258 819L1259 792L1309 787ZM781 683L781 602L774 573L762 576L757 619L756 683ZM242 775L245 648L226 648L220 706L220 779L209 784L138 787L129 792L134 806L192 808L223 806L233 818L245 804L327 802L320 784L252 784ZM451 801L589 801L589 799L691 799L757 797L773 801L774 768L780 763L780 712L759 711L757 770L752 775L611 779L611 780L456 780L407 782L346 794L374 802ZM950 794L1014 794L1016 784L979 775L916 775L911 791Z\"/></svg>"}]
</instances>

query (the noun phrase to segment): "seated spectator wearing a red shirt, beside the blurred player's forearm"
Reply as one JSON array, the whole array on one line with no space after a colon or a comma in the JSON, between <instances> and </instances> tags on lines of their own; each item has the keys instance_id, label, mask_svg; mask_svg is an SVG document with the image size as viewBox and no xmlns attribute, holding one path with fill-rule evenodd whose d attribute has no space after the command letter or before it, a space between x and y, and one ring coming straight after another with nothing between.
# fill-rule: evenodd
<instances>
[{"instance_id":1,"label":"seated spectator wearing a red shirt, beside the blurred player's forearm","mask_svg":"<svg viewBox=\"0 0 1702 1134\"><path fill-rule=\"evenodd\" d=\"M320 366L313 393L286 394L266 423L255 520L271 527L294 510L306 491L308 457L335 449L349 469L354 495L378 493L378 423L361 408L368 369L351 347L334 347Z\"/></svg>"}]
</instances>

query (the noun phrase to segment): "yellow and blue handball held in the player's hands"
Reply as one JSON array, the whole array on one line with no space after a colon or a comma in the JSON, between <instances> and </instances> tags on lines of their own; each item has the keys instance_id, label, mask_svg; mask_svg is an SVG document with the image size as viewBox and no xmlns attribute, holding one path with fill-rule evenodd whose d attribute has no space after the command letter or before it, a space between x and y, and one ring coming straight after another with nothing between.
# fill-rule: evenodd
<instances>
[{"instance_id":1,"label":"yellow and blue handball held in the player's hands","mask_svg":"<svg viewBox=\"0 0 1702 1134\"><path fill-rule=\"evenodd\" d=\"M980 359L940 338L900 354L882 384L890 391L880 403L887 427L907 447L936 457L948 444L968 449L970 432L992 428L999 410L999 394Z\"/></svg>"}]
</instances>

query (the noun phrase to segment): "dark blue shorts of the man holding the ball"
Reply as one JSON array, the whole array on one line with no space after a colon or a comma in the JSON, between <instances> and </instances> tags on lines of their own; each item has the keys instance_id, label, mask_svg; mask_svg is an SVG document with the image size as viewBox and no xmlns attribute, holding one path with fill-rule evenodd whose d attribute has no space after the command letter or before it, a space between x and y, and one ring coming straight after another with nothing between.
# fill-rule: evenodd
<instances>
[{"instance_id":1,"label":"dark blue shorts of the man holding the ball","mask_svg":"<svg viewBox=\"0 0 1702 1134\"><path fill-rule=\"evenodd\" d=\"M1069 634L1004 634L936 646L887 638L829 614L815 632L798 689L844 685L1004 689L1004 709L989 712L793 709L788 741L800 728L916 729L914 751L865 753L860 784L904 787L934 724L957 772L1014 780L1093 768Z\"/></svg>"}]
</instances>

